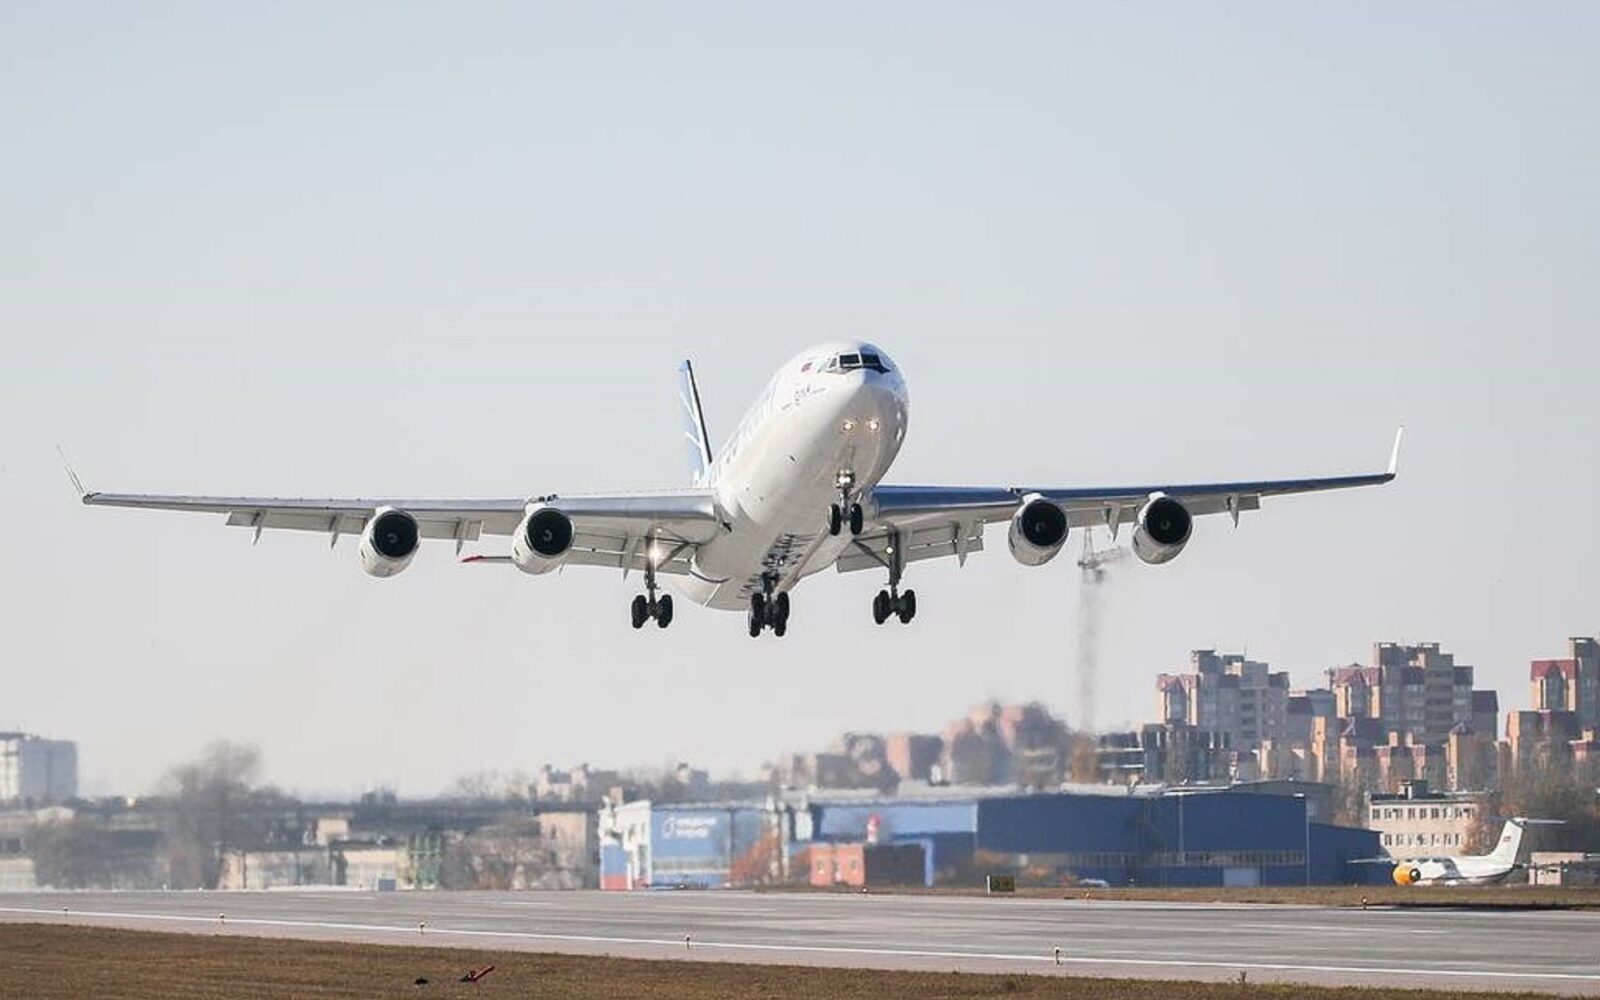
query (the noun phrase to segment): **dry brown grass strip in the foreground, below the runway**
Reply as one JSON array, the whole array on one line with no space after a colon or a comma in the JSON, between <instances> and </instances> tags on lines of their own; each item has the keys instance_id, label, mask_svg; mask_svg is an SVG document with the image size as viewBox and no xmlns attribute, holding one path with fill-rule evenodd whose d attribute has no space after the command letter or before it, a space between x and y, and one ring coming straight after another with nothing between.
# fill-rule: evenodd
<instances>
[{"instance_id":1,"label":"dry brown grass strip in the foreground, below the runway","mask_svg":"<svg viewBox=\"0 0 1600 1000\"><path fill-rule=\"evenodd\" d=\"M478 982L459 978L485 965ZM418 984L427 979L427 984ZM1221 979L1221 978L1219 978ZM715 962L640 962L384 947L267 938L152 934L83 926L0 925L0 1000L277 1000L299 997L517 997L534 1000L957 1000L1050 997L1072 1000L1427 1000L1512 994L1435 994L1395 989L1317 989L1240 982L1147 982L1058 976L979 976L824 970Z\"/></svg>"}]
</instances>

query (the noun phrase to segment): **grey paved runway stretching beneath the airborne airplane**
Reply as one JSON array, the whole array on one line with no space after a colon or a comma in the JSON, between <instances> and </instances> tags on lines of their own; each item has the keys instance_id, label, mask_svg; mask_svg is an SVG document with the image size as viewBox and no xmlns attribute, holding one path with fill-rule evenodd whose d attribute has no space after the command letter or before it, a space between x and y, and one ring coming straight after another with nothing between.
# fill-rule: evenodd
<instances>
[{"instance_id":1,"label":"grey paved runway stretching beneath the airborne airplane","mask_svg":"<svg viewBox=\"0 0 1600 1000\"><path fill-rule=\"evenodd\" d=\"M1600 994L1600 914L800 893L6 893L0 922L638 958Z\"/></svg>"}]
</instances>

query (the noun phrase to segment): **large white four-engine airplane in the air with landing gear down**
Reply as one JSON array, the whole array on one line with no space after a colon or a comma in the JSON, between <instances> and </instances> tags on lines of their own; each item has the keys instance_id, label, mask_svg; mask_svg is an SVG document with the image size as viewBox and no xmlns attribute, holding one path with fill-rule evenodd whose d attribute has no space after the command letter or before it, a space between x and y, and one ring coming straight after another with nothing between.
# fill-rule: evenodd
<instances>
[{"instance_id":1,"label":"large white four-engine airplane in the air with landing gear down","mask_svg":"<svg viewBox=\"0 0 1600 1000\"><path fill-rule=\"evenodd\" d=\"M888 586L872 619L909 622L915 590L906 565L949 557L965 563L984 547L984 528L1010 522L1011 554L1027 566L1050 562L1072 526L1131 523L1133 550L1165 563L1189 542L1194 515L1256 510L1262 496L1371 486L1389 470L1328 478L1146 486L896 486L885 485L906 440L906 381L883 350L864 342L811 347L766 382L722 451L714 453L694 370L682 368L683 429L693 485L658 493L542 494L507 499L278 499L262 496L147 496L83 493L83 502L226 514L229 525L322 531L338 542L360 536L362 568L405 570L424 538L462 542L510 536L507 555L462 562L509 563L525 573L610 566L643 573L632 602L635 629L672 622L669 578L709 608L747 613L749 632L782 635L790 592L802 578L837 566L877 570ZM80 486L82 493L82 486Z\"/></svg>"}]
</instances>

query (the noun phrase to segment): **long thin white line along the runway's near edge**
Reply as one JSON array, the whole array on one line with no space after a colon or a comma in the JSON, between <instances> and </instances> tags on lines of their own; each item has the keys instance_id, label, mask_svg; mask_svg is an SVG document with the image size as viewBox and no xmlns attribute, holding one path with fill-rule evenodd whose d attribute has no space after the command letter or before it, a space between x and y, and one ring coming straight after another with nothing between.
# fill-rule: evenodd
<instances>
[{"instance_id":1,"label":"long thin white line along the runway's near edge","mask_svg":"<svg viewBox=\"0 0 1600 1000\"><path fill-rule=\"evenodd\" d=\"M274 920L264 917L232 917L226 923L216 917L195 917L186 914L128 914L110 910L69 910L40 907L0 906L0 914L26 914L38 917L72 918L110 918L110 920L150 920L168 923L211 923L221 926L282 926L333 931L366 931L381 934L405 934L406 938L509 938L518 941L566 941L571 944L634 944L683 949L683 939L677 938L622 938L606 934L550 934L539 931L491 931L491 930L456 930L445 926L429 926L426 934L416 926L395 926L387 923L346 923L336 920ZM1178 960L1178 958L1096 958L1088 955L1026 955L1016 952L965 952L965 950L931 950L931 949L899 949L899 947L864 947L864 946L829 946L829 944L763 944L754 941L694 941L694 950L734 950L734 952L800 952L822 955L877 955L888 958L982 958L990 962L1027 962L1037 965L1123 965L1150 968L1221 968L1221 970L1253 970L1272 973L1347 973L1347 974L1384 974L1384 976L1456 976L1462 979L1557 979L1563 982L1600 982L1595 973L1523 973L1493 970L1456 970L1456 968L1422 968L1378 966L1378 965L1309 965L1291 962L1214 962L1214 960Z\"/></svg>"}]
</instances>

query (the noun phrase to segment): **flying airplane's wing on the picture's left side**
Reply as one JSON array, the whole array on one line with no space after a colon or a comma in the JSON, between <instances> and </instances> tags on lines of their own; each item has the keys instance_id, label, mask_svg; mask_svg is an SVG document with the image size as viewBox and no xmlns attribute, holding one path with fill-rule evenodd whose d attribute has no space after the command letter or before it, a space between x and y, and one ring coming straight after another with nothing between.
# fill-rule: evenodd
<instances>
[{"instance_id":1,"label":"flying airplane's wing on the picture's left side","mask_svg":"<svg viewBox=\"0 0 1600 1000\"><path fill-rule=\"evenodd\" d=\"M422 538L462 542L483 534L512 534L533 504L555 507L573 522L573 549L566 565L643 570L646 542L661 542L658 573L688 573L693 547L720 528L709 490L666 493L618 493L506 499L411 499L411 498L269 498L269 496L157 496L141 493L85 493L91 507L136 507L222 514L227 523L264 530L320 531L338 541L360 534L384 507L405 510L418 522ZM501 562L490 557L483 562Z\"/></svg>"}]
</instances>

